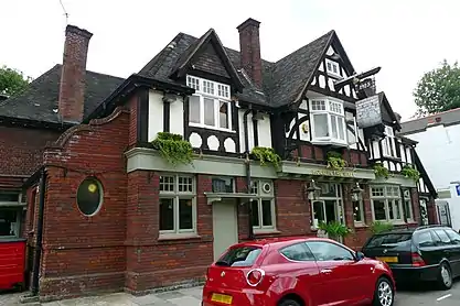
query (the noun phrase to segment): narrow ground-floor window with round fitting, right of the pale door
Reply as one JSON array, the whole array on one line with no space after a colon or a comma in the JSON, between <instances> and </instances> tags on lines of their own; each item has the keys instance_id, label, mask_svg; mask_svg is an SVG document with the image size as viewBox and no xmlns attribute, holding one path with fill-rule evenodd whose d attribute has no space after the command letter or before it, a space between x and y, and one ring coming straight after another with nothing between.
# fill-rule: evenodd
<instances>
[{"instance_id":1,"label":"narrow ground-floor window with round fitting, right of the pale door","mask_svg":"<svg viewBox=\"0 0 460 306\"><path fill-rule=\"evenodd\" d=\"M252 194L257 198L250 203L253 210L253 227L255 231L275 229L275 196L272 183L253 181Z\"/></svg>"}]
</instances>

